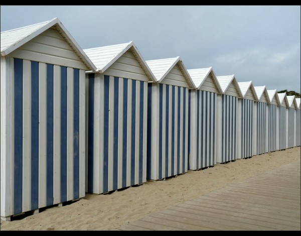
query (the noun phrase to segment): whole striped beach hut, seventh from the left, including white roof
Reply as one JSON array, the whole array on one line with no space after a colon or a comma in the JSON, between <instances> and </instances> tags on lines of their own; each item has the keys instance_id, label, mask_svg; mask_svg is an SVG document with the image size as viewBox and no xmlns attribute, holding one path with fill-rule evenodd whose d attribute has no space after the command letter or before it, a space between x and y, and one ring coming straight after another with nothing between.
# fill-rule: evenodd
<instances>
[{"instance_id":1,"label":"whole striped beach hut, seventh from the left, including white roof","mask_svg":"<svg viewBox=\"0 0 301 236\"><path fill-rule=\"evenodd\" d=\"M253 155L260 155L267 152L266 136L268 135L268 104L269 96L264 86L254 86L258 101L254 103L253 115Z\"/></svg>"}]
</instances>

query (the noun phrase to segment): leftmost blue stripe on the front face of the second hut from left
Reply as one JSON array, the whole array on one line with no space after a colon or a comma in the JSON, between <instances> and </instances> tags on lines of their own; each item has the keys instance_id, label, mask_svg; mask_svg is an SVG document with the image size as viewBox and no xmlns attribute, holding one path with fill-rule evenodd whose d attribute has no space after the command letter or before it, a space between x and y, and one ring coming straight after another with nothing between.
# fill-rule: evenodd
<instances>
[{"instance_id":1,"label":"leftmost blue stripe on the front face of the second hut from left","mask_svg":"<svg viewBox=\"0 0 301 236\"><path fill-rule=\"evenodd\" d=\"M103 111L103 192L108 191L108 162L109 162L109 82L108 75L104 75L104 111Z\"/></svg>"}]
</instances>

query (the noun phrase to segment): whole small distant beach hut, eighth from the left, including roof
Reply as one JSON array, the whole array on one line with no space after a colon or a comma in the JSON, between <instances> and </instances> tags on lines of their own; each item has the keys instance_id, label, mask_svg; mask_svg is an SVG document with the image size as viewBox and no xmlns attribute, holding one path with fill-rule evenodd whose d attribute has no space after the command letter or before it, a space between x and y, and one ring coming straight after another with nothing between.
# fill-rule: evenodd
<instances>
[{"instance_id":1,"label":"whole small distant beach hut, eighth from the left, including roof","mask_svg":"<svg viewBox=\"0 0 301 236\"><path fill-rule=\"evenodd\" d=\"M270 103L267 104L267 133L266 138L266 152L274 152L278 149L278 137L279 137L279 110L280 100L276 89L266 90Z\"/></svg>"}]
</instances>

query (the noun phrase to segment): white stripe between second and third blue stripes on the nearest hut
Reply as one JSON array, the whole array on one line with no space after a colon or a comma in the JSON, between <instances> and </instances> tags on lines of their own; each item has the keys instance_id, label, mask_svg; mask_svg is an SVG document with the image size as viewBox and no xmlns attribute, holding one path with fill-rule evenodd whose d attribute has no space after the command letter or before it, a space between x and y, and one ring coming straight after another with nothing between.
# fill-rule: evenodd
<instances>
[{"instance_id":1,"label":"white stripe between second and third blue stripes on the nearest hut","mask_svg":"<svg viewBox=\"0 0 301 236\"><path fill-rule=\"evenodd\" d=\"M39 208L46 206L46 64L39 63Z\"/></svg>"}]
</instances>

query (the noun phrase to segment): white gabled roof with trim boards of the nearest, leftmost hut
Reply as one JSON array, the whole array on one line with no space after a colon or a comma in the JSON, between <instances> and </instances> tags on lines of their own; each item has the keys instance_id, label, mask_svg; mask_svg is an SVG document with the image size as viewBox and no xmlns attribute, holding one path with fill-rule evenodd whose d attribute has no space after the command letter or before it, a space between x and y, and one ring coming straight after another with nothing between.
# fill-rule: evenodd
<instances>
[{"instance_id":1,"label":"white gabled roof with trim boards of the nearest, leftmost hut","mask_svg":"<svg viewBox=\"0 0 301 236\"><path fill-rule=\"evenodd\" d=\"M94 64L87 57L80 46L75 42L73 37L69 34L69 32L66 30L66 28L58 18L54 18L50 21L35 25L1 32L1 56L9 55L11 52L20 48L22 45L26 44L27 42L53 26L58 30L62 37L65 38L66 42L70 45L70 47L74 50L74 52L78 55L82 62L87 66L87 68L90 70L95 70L96 67L94 66Z\"/></svg>"}]
</instances>

